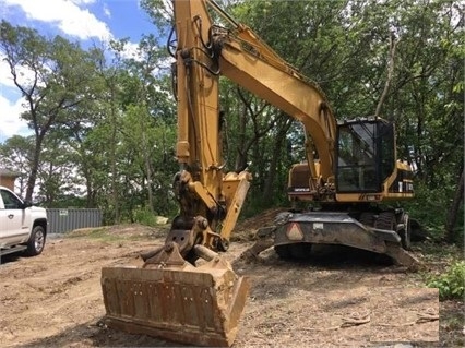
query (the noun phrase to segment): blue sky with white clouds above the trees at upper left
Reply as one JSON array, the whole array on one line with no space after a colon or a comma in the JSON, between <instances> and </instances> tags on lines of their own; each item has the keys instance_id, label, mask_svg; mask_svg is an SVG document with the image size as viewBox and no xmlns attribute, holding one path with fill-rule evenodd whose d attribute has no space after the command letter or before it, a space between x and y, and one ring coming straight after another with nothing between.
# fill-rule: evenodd
<instances>
[{"instance_id":1,"label":"blue sky with white clouds above the trees at upper left","mask_svg":"<svg viewBox=\"0 0 465 348\"><path fill-rule=\"evenodd\" d=\"M61 35L82 47L129 37L131 50L143 34L155 34L139 0L0 0L0 20L34 28L46 37ZM0 143L15 134L31 134L20 119L23 104L0 52Z\"/></svg>"}]
</instances>

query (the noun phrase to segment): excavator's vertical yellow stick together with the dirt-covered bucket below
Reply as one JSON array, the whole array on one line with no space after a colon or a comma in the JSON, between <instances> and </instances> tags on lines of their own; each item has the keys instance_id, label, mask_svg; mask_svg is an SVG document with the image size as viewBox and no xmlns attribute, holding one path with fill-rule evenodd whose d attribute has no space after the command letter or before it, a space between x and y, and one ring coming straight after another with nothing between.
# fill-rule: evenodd
<instances>
[{"instance_id":1,"label":"excavator's vertical yellow stick together with the dirt-covered bucket below","mask_svg":"<svg viewBox=\"0 0 465 348\"><path fill-rule=\"evenodd\" d=\"M228 248L251 177L224 172L219 73L208 58L205 2L179 0L174 8L179 215L165 244L141 255L142 267L103 268L106 323L189 345L230 346L249 284L216 252Z\"/></svg>"}]
</instances>

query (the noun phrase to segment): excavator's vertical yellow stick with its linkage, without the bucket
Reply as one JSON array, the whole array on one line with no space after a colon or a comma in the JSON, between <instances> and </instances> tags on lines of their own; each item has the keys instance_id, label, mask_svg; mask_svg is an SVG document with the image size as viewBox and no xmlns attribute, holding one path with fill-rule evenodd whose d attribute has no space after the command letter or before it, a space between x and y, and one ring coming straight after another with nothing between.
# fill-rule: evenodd
<instances>
[{"instance_id":1,"label":"excavator's vertical yellow stick with its linkage, without the bucket","mask_svg":"<svg viewBox=\"0 0 465 348\"><path fill-rule=\"evenodd\" d=\"M211 21L204 1L175 1L178 104L175 192L180 214L169 240L188 256L194 244L224 251L249 189L250 173L224 172L218 67L211 58ZM188 228L187 228L188 227ZM184 232L179 232L183 230ZM186 243L190 240L193 242Z\"/></svg>"}]
</instances>

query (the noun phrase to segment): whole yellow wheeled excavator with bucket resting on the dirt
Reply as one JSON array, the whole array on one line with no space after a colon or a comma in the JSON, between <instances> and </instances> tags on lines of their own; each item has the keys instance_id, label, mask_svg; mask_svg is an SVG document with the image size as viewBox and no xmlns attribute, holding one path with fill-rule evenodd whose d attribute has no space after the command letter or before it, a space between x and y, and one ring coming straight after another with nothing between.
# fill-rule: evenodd
<instances>
[{"instance_id":1,"label":"whole yellow wheeled excavator with bucket resting on the dirt","mask_svg":"<svg viewBox=\"0 0 465 348\"><path fill-rule=\"evenodd\" d=\"M274 247L282 257L299 257L312 244L343 244L413 266L405 251L408 215L380 204L414 196L412 168L396 158L394 125L378 117L337 123L318 85L214 1L172 3L179 215L165 244L143 254L140 267L103 268L106 323L194 346L235 340L249 284L219 252L228 250L251 175L224 171L219 76L300 121L306 132L307 158L290 168L288 195L319 208L276 216L259 231L271 242L252 248L254 254Z\"/></svg>"}]
</instances>

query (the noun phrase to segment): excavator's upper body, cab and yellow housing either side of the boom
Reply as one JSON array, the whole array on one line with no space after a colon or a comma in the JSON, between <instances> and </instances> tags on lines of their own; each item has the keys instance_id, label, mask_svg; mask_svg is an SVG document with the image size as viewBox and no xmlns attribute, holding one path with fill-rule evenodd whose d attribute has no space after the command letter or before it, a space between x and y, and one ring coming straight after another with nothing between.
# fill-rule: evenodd
<instances>
[{"instance_id":1,"label":"excavator's upper body, cab and yellow housing either side of the boom","mask_svg":"<svg viewBox=\"0 0 465 348\"><path fill-rule=\"evenodd\" d=\"M319 159L314 161L314 167L318 177ZM321 188L330 188L338 202L367 199L380 202L414 195L412 167L397 160L394 124L382 118L357 119L337 124L334 167L334 178L321 184ZM311 183L308 163L294 165L289 171L289 199L318 199L319 192L312 190Z\"/></svg>"}]
</instances>

